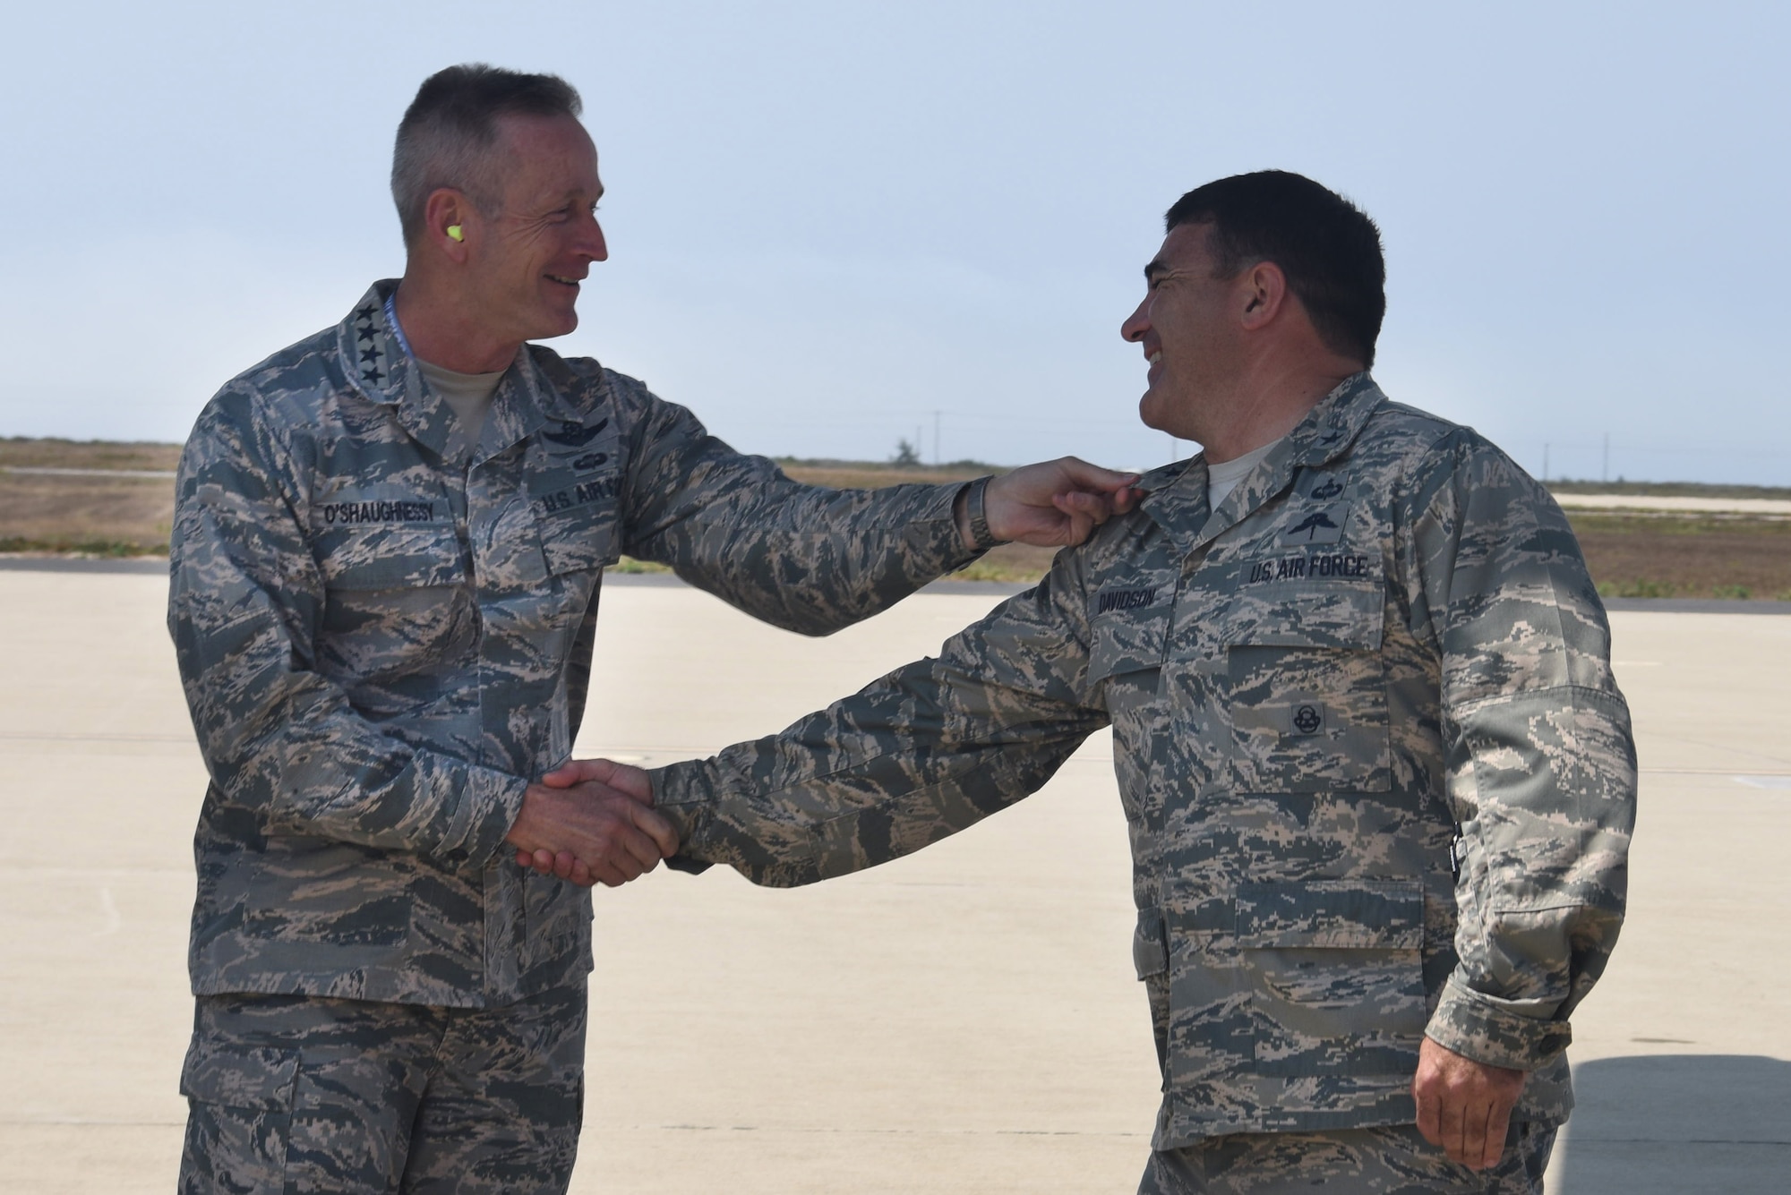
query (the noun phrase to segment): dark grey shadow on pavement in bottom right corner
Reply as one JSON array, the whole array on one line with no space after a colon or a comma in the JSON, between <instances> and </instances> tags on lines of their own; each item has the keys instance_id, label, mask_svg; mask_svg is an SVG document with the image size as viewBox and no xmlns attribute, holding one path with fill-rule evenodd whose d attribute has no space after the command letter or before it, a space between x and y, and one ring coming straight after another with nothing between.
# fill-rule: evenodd
<instances>
[{"instance_id":1,"label":"dark grey shadow on pavement in bottom right corner","mask_svg":"<svg viewBox=\"0 0 1791 1195\"><path fill-rule=\"evenodd\" d=\"M1572 1068L1551 1195L1791 1190L1791 1063L1752 1054L1610 1057Z\"/></svg>"}]
</instances>

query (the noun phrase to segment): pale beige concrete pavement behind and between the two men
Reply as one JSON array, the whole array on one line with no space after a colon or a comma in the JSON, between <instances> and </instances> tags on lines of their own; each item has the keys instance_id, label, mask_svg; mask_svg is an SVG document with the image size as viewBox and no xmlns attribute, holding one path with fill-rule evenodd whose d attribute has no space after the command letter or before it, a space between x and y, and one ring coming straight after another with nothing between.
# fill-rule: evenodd
<instances>
[{"instance_id":1,"label":"pale beige concrete pavement behind and between the two men","mask_svg":"<svg viewBox=\"0 0 1791 1195\"><path fill-rule=\"evenodd\" d=\"M0 571L0 1190L165 1191L204 789L161 578ZM774 730L989 594L804 640L611 585L580 755ZM1551 1191L1791 1174L1791 617L1614 615L1642 751L1630 925L1576 1016ZM575 1191L1134 1190L1155 1106L1109 741L913 859L808 891L602 891Z\"/></svg>"}]
</instances>

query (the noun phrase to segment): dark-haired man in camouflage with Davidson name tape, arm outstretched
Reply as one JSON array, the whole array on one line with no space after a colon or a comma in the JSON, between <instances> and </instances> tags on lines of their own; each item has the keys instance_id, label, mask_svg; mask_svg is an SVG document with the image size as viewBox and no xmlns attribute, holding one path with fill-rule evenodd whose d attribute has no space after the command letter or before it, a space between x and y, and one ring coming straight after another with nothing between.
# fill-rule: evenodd
<instances>
[{"instance_id":1,"label":"dark-haired man in camouflage with Davidson name tape, arm outstretched","mask_svg":"<svg viewBox=\"0 0 1791 1195\"><path fill-rule=\"evenodd\" d=\"M1635 810L1598 590L1542 487L1368 376L1361 211L1263 172L1166 224L1123 335L1144 422L1204 454L937 660L713 760L550 782L650 782L686 857L806 884L1110 725L1162 1061L1139 1190L1537 1191Z\"/></svg>"}]
</instances>

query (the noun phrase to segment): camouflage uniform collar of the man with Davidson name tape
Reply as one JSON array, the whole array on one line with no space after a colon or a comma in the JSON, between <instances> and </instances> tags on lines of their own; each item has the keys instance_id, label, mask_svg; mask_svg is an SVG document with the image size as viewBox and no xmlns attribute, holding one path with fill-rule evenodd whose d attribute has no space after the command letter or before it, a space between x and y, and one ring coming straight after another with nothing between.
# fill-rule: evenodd
<instances>
[{"instance_id":1,"label":"camouflage uniform collar of the man with Davidson name tape","mask_svg":"<svg viewBox=\"0 0 1791 1195\"><path fill-rule=\"evenodd\" d=\"M1268 499L1293 483L1300 469L1316 469L1343 456L1377 406L1386 401L1367 370L1350 374L1306 413L1275 451L1238 483L1218 510L1207 508L1207 462L1196 456L1144 474L1139 487L1152 490L1141 503L1186 553L1198 551L1255 513ZM1159 483L1162 488L1153 488Z\"/></svg>"}]
</instances>

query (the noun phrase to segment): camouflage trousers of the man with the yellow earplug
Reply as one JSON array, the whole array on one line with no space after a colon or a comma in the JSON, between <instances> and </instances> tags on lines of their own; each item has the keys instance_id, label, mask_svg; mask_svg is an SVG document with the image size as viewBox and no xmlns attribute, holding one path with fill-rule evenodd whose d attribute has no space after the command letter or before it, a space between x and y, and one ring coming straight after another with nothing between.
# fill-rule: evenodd
<instances>
[{"instance_id":1,"label":"camouflage trousers of the man with the yellow earplug","mask_svg":"<svg viewBox=\"0 0 1791 1195\"><path fill-rule=\"evenodd\" d=\"M199 996L181 1195L564 1191L584 987L501 1009Z\"/></svg>"}]
</instances>

